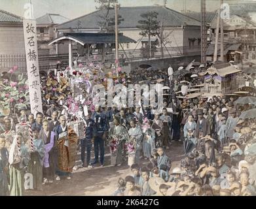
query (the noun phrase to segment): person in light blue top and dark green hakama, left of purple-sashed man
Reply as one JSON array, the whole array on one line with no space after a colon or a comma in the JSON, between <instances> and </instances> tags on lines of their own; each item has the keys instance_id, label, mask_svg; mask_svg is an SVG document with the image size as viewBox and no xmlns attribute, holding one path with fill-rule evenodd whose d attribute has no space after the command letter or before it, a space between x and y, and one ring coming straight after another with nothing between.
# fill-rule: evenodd
<instances>
[{"instance_id":1,"label":"person in light blue top and dark green hakama, left of purple-sashed man","mask_svg":"<svg viewBox=\"0 0 256 209\"><path fill-rule=\"evenodd\" d=\"M42 189L43 182L43 158L45 156L45 143L39 138L39 129L33 129L33 149L30 153L30 161L27 172L33 175L33 189Z\"/></svg>"}]
</instances>

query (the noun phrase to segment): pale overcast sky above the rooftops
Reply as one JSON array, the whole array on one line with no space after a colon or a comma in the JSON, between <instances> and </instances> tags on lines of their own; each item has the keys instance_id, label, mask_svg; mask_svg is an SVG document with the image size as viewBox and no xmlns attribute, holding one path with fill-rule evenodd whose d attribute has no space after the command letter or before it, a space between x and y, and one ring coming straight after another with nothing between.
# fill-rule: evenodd
<instances>
[{"instance_id":1,"label":"pale overcast sky above the rooftops","mask_svg":"<svg viewBox=\"0 0 256 209\"><path fill-rule=\"evenodd\" d=\"M187 1L187 10L200 11L200 0L167 0L166 7L181 11L184 8L184 2ZM35 18L43 16L46 13L62 14L73 19L96 10L94 0L31 0L34 8ZM206 0L207 10L217 8L217 0ZM225 0L227 3L254 2L244 0ZM19 16L24 16L24 4L29 0L0 0L0 9L7 10ZM163 5L163 0L119 0L121 7L136 7L149 5Z\"/></svg>"}]
</instances>

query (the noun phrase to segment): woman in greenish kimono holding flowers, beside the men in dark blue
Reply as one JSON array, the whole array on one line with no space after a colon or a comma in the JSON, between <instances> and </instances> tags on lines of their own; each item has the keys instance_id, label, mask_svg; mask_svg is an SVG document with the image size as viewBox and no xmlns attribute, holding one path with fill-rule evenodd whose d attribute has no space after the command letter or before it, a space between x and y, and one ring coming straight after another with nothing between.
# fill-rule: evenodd
<instances>
[{"instance_id":1,"label":"woman in greenish kimono holding flowers, beside the men in dark blue","mask_svg":"<svg viewBox=\"0 0 256 209\"><path fill-rule=\"evenodd\" d=\"M115 126L109 131L109 146L111 149L111 165L122 164L122 144L129 138L126 129L120 125L120 119L114 118Z\"/></svg>"}]
</instances>

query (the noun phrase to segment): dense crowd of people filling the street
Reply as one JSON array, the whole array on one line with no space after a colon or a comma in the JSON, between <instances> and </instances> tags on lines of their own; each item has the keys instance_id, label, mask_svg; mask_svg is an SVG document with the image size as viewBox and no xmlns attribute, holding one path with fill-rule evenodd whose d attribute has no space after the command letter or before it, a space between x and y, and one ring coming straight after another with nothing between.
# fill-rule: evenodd
<instances>
[{"instance_id":1,"label":"dense crowd of people filling the street","mask_svg":"<svg viewBox=\"0 0 256 209\"><path fill-rule=\"evenodd\" d=\"M68 93L65 101L50 88L45 89L43 112L33 115L27 108L20 108L16 118L3 117L0 196L24 195L26 174L33 176L30 189L72 178L77 146L82 167L104 167L105 148L110 150L111 165L130 166L130 176L119 178L113 195L256 195L256 121L239 119L252 106L239 106L234 97L179 99L175 92L181 89L181 80L186 79L183 74L175 78L172 67L168 71L141 72L124 75L120 82L126 85L145 80L168 86L162 108L95 105L84 111L82 104L72 106ZM193 81L202 83L200 78ZM67 106L75 109L75 116L69 114ZM80 130L75 131L71 121ZM22 125L31 132L28 137L20 131ZM172 167L168 157L174 141L184 147L179 167ZM148 161L146 167L141 166L141 157Z\"/></svg>"}]
</instances>

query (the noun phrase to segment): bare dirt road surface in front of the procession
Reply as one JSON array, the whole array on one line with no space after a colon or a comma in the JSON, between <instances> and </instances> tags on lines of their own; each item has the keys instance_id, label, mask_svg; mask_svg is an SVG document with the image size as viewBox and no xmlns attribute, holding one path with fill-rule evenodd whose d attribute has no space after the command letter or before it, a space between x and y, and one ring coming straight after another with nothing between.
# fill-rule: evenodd
<instances>
[{"instance_id":1,"label":"bare dirt road surface in front of the procession","mask_svg":"<svg viewBox=\"0 0 256 209\"><path fill-rule=\"evenodd\" d=\"M106 148L107 149L107 148ZM182 142L172 142L167 155L172 161L172 169L179 164L183 157ZM142 166L147 165L149 161L141 159ZM112 195L117 189L117 180L128 176L131 173L130 168L125 163L120 167L113 167L110 164L110 154L105 155L105 167L96 165L94 169L82 168L75 170L71 180L62 179L60 182L43 185L42 191L26 191L25 195L40 196L103 196Z\"/></svg>"}]
</instances>

